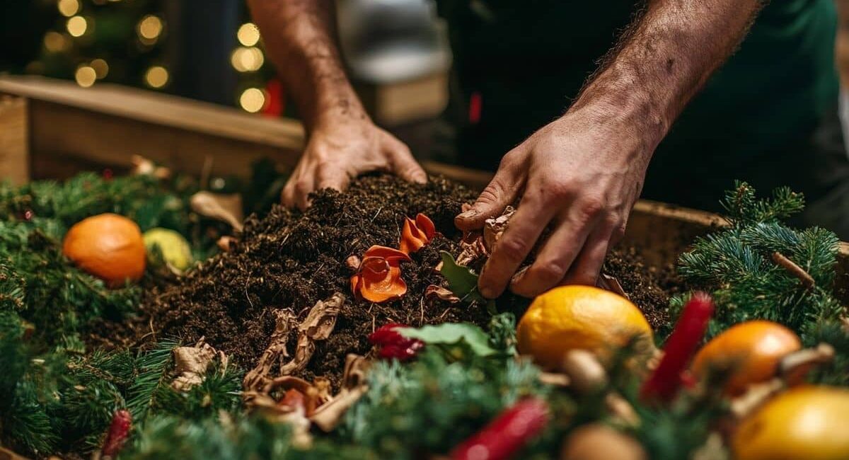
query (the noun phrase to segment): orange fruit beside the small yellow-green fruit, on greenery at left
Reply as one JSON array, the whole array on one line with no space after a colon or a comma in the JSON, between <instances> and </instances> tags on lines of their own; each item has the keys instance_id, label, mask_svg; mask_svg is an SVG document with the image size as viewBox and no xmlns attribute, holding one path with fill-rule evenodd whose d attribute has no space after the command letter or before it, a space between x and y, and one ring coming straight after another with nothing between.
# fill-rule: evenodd
<instances>
[{"instance_id":1,"label":"orange fruit beside the small yellow-green fruit, on greenery at left","mask_svg":"<svg viewBox=\"0 0 849 460\"><path fill-rule=\"evenodd\" d=\"M118 287L142 278L144 240L136 222L117 214L101 214L76 222L65 234L62 253L82 270Z\"/></svg>"}]
</instances>

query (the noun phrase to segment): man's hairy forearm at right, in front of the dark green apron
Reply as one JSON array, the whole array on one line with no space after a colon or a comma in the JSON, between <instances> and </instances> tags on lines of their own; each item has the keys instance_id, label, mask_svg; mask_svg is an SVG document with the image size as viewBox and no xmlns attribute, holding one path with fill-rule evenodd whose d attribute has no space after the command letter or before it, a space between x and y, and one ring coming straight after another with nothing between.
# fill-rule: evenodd
<instances>
[{"instance_id":1,"label":"man's hairy forearm at right, in front of the dark green apron","mask_svg":"<svg viewBox=\"0 0 849 460\"><path fill-rule=\"evenodd\" d=\"M651 154L760 7L760 0L650 0L570 111L598 108L605 121L644 139Z\"/></svg>"}]
</instances>

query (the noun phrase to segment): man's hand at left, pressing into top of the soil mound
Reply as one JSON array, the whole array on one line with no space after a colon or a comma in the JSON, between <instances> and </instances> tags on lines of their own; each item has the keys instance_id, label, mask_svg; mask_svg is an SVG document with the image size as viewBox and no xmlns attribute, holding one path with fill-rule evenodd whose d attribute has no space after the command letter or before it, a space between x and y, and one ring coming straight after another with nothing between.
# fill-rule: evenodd
<instances>
[{"instance_id":1,"label":"man's hand at left, pressing into top of the soil mound","mask_svg":"<svg viewBox=\"0 0 849 460\"><path fill-rule=\"evenodd\" d=\"M390 171L409 182L427 180L404 143L366 118L345 116L312 131L283 189L283 203L303 210L309 205L307 195L311 192L322 188L344 190L352 177L367 171Z\"/></svg>"}]
</instances>

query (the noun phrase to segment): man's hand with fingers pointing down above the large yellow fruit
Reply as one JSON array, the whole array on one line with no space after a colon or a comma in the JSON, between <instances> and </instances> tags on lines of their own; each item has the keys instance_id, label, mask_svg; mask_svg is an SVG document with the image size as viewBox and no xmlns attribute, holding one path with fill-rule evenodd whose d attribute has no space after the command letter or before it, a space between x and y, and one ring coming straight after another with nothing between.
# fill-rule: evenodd
<instances>
[{"instance_id":1,"label":"man's hand with fingers pointing down above the large yellow fruit","mask_svg":"<svg viewBox=\"0 0 849 460\"><path fill-rule=\"evenodd\" d=\"M463 230L480 228L521 196L481 272L481 295L498 296L509 285L532 297L560 283L595 283L625 231L651 154L604 118L583 109L544 126L504 155L472 209L457 217ZM514 275L546 227L536 261Z\"/></svg>"}]
</instances>

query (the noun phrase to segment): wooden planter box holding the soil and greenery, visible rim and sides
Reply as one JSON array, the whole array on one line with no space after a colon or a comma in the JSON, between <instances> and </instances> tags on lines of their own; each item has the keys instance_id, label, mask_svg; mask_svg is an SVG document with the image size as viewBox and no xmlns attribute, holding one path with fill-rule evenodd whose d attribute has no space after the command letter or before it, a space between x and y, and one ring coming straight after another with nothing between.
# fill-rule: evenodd
<instances>
[{"instance_id":1,"label":"wooden planter box holding the soil and greenery, visible rim and sides","mask_svg":"<svg viewBox=\"0 0 849 460\"><path fill-rule=\"evenodd\" d=\"M303 145L303 128L293 120L114 85L0 77L0 177L14 182L104 167L122 171L132 154L193 174L247 176L250 163L262 157L294 167ZM435 162L424 168L479 189L491 177ZM720 225L710 213L641 200L625 243L643 248L647 261L661 266ZM849 244L841 243L839 260L838 290L849 293ZM841 300L849 302L849 295Z\"/></svg>"}]
</instances>

